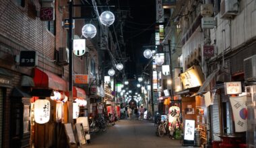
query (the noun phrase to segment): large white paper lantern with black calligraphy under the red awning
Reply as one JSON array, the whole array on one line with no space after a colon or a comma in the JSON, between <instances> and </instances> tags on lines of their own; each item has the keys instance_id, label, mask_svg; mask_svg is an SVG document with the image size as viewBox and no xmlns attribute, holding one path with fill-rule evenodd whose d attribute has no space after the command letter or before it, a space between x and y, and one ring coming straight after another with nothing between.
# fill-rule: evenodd
<instances>
[{"instance_id":1,"label":"large white paper lantern with black calligraphy under the red awning","mask_svg":"<svg viewBox=\"0 0 256 148\"><path fill-rule=\"evenodd\" d=\"M38 99L34 102L34 120L38 124L44 124L50 120L50 101Z\"/></svg>"}]
</instances>

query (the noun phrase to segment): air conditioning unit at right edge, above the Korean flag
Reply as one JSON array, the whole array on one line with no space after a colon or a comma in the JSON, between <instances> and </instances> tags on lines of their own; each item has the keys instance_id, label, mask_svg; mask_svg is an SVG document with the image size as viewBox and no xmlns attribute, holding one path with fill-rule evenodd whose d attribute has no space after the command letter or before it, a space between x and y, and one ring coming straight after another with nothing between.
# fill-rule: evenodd
<instances>
[{"instance_id":1,"label":"air conditioning unit at right edge, above the Korean flag","mask_svg":"<svg viewBox=\"0 0 256 148\"><path fill-rule=\"evenodd\" d=\"M245 80L256 81L256 54L244 59Z\"/></svg>"}]
</instances>

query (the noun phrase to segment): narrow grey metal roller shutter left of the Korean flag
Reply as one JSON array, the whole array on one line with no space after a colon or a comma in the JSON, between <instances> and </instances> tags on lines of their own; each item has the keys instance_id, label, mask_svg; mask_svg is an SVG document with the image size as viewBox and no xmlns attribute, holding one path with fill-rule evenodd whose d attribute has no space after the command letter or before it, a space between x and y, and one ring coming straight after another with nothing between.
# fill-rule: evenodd
<instances>
[{"instance_id":1,"label":"narrow grey metal roller shutter left of the Korean flag","mask_svg":"<svg viewBox=\"0 0 256 148\"><path fill-rule=\"evenodd\" d=\"M220 95L215 94L214 105L212 105L212 140L220 141L220 137L215 134L220 133Z\"/></svg>"}]
</instances>

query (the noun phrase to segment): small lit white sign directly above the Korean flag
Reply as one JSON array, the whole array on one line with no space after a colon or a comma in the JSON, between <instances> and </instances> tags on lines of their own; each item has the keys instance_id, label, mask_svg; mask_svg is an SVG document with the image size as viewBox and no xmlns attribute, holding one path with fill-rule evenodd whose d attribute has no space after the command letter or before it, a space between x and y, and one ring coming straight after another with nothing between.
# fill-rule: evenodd
<instances>
[{"instance_id":1,"label":"small lit white sign directly above the Korean flag","mask_svg":"<svg viewBox=\"0 0 256 148\"><path fill-rule=\"evenodd\" d=\"M225 82L224 87L225 87L225 94L226 95L241 94L242 93L241 81Z\"/></svg>"}]
</instances>

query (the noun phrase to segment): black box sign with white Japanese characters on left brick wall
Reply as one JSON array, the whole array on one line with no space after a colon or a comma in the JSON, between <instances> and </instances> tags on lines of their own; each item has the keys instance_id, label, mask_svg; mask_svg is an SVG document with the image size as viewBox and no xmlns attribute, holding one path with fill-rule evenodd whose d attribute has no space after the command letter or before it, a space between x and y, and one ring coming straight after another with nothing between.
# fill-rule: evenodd
<instances>
[{"instance_id":1,"label":"black box sign with white Japanese characters on left brick wall","mask_svg":"<svg viewBox=\"0 0 256 148\"><path fill-rule=\"evenodd\" d=\"M20 67L35 67L38 65L38 57L36 51L22 50L20 51Z\"/></svg>"}]
</instances>

